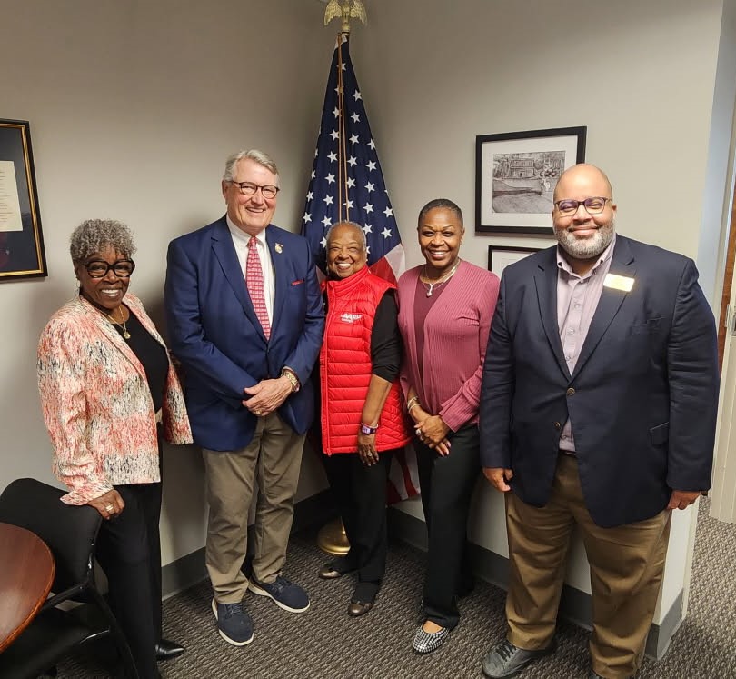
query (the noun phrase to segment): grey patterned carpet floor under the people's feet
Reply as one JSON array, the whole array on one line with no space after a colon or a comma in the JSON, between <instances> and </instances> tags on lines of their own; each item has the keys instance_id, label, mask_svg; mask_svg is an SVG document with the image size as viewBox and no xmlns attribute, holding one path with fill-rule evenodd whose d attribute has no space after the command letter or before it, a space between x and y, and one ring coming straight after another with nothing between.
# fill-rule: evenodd
<instances>
[{"instance_id":1,"label":"grey patterned carpet floor under the people's feet","mask_svg":"<svg viewBox=\"0 0 736 679\"><path fill-rule=\"evenodd\" d=\"M736 525L708 516L701 503L691 586L690 611L658 663L646 659L642 679L727 679L736 677ZM349 576L323 581L317 569L325 555L313 534L297 534L290 545L286 575L303 584L312 599L304 614L290 614L269 599L248 594L254 618L254 643L235 648L216 633L210 610L211 590L201 583L164 604L164 636L187 647L180 658L161 664L166 679L409 679L481 677L482 656L502 638L502 590L479 582L462 600L462 621L443 647L430 655L411 650L419 623L423 578L422 552L392 544L388 574L375 608L362 618L347 616L352 594ZM588 633L572 625L558 627L558 650L532 664L525 679L587 677ZM104 677L85 656L59 668L60 679Z\"/></svg>"}]
</instances>

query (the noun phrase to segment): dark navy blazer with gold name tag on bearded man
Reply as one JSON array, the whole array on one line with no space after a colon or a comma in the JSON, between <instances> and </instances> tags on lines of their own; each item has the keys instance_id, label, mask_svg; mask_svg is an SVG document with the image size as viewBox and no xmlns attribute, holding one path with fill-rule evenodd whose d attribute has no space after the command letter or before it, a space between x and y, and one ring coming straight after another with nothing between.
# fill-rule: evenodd
<instances>
[{"instance_id":1,"label":"dark navy blazer with gold name tag on bearded man","mask_svg":"<svg viewBox=\"0 0 736 679\"><path fill-rule=\"evenodd\" d=\"M672 490L711 487L718 353L697 269L618 235L610 273L633 278L632 290L603 288L570 374L555 250L503 271L483 367L482 465L511 468L512 492L543 506L570 417L593 521L650 518Z\"/></svg>"}]
</instances>

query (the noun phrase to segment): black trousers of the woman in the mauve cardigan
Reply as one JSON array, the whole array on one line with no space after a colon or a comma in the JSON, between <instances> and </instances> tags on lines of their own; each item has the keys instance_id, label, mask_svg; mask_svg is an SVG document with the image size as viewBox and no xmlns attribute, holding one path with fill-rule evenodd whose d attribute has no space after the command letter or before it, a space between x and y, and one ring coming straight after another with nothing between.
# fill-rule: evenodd
<instances>
[{"instance_id":1,"label":"black trousers of the woman in the mauve cardigan","mask_svg":"<svg viewBox=\"0 0 736 679\"><path fill-rule=\"evenodd\" d=\"M423 607L427 620L453 629L460 622L458 594L472 589L468 554L468 512L472 490L481 474L480 440L475 424L448 436L443 457L414 440L427 524L427 573Z\"/></svg>"}]
</instances>

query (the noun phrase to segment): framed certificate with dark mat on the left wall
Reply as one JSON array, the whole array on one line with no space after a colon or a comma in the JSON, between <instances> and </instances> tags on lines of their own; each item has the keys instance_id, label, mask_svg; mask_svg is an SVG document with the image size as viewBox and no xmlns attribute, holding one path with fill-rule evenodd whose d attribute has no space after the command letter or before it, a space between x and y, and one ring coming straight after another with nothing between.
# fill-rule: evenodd
<instances>
[{"instance_id":1,"label":"framed certificate with dark mat on the left wall","mask_svg":"<svg viewBox=\"0 0 736 679\"><path fill-rule=\"evenodd\" d=\"M0 281L45 275L28 121L0 119Z\"/></svg>"}]
</instances>

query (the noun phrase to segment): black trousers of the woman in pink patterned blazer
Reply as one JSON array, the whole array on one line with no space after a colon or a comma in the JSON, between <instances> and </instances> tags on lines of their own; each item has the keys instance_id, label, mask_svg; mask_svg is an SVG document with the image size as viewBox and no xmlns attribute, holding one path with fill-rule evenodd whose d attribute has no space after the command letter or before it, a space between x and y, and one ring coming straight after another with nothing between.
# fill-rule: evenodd
<instances>
[{"instance_id":1,"label":"black trousers of the woman in pink patterned blazer","mask_svg":"<svg viewBox=\"0 0 736 679\"><path fill-rule=\"evenodd\" d=\"M116 485L123 512L104 521L97 560L108 596L141 679L158 679L155 644L161 639L161 484Z\"/></svg>"}]
</instances>

